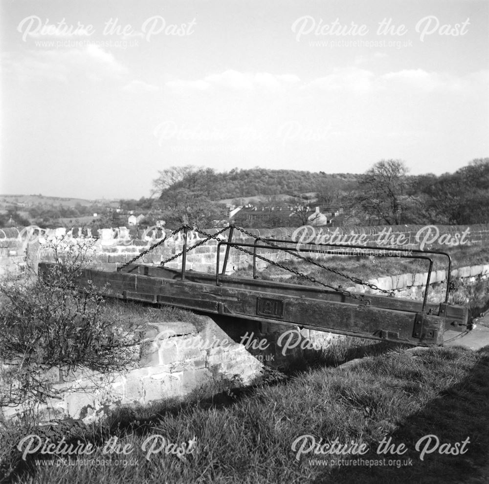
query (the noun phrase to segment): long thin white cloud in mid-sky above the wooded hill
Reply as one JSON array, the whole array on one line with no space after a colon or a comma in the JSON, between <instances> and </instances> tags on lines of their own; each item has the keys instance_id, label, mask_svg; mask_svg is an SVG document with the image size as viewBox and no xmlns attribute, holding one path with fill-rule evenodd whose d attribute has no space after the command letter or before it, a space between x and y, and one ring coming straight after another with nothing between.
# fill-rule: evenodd
<instances>
[{"instance_id":1,"label":"long thin white cloud in mid-sky above the wooded hill","mask_svg":"<svg viewBox=\"0 0 489 484\"><path fill-rule=\"evenodd\" d=\"M275 75L267 72L252 74L228 69L221 73L210 74L197 81L174 80L167 82L165 85L179 90L202 91L211 88L222 88L233 91L252 91L255 89L275 91L283 90L299 81L300 79L293 74Z\"/></svg>"}]
</instances>

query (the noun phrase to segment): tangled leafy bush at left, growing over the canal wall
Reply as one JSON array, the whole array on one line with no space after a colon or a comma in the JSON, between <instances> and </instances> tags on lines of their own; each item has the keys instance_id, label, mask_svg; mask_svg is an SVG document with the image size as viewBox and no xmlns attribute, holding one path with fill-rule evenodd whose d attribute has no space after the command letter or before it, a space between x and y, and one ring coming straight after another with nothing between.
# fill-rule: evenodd
<instances>
[{"instance_id":1,"label":"tangled leafy bush at left, growing over the canal wall","mask_svg":"<svg viewBox=\"0 0 489 484\"><path fill-rule=\"evenodd\" d=\"M22 274L0 282L0 405L44 403L55 397L50 370L82 367L108 373L127 369L144 336L136 322L105 316L105 300L91 282L77 278L92 247L61 239L51 243L55 264L37 277ZM56 375L56 371L51 375Z\"/></svg>"}]
</instances>

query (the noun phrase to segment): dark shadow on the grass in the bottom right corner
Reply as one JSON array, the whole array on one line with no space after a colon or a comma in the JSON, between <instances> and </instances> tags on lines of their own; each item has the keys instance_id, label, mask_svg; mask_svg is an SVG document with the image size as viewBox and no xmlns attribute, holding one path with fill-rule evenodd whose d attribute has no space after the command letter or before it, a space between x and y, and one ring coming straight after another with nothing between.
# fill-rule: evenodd
<instances>
[{"instance_id":1,"label":"dark shadow on the grass in the bottom right corner","mask_svg":"<svg viewBox=\"0 0 489 484\"><path fill-rule=\"evenodd\" d=\"M468 351L468 350L467 350ZM467 379L449 387L421 411L411 415L399 429L387 436L397 447L404 443L404 454L377 453L377 445L361 456L364 460L396 461L393 466L345 464L325 471L314 484L357 483L483 484L489 482L489 346L477 352L479 363ZM449 354L447 354L449 355ZM448 358L449 359L449 358ZM447 364L450 364L447 361ZM428 437L432 436L428 441ZM436 436L436 437L435 437ZM460 454L462 442L469 441ZM437 440L438 439L438 440ZM418 450L416 450L417 443ZM438 443L439 442L439 443ZM456 446L456 442L459 442ZM422 450L428 452L421 460ZM452 455L458 454L458 455ZM352 456L345 460L356 459ZM412 465L408 463L411 459ZM346 467L348 465L348 467Z\"/></svg>"}]
</instances>

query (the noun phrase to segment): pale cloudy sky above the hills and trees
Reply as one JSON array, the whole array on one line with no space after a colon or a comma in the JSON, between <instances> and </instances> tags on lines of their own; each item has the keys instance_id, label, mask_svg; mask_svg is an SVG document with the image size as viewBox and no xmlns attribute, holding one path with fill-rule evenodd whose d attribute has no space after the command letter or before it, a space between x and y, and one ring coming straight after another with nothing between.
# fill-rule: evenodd
<instances>
[{"instance_id":1,"label":"pale cloudy sky above the hills and trees","mask_svg":"<svg viewBox=\"0 0 489 484\"><path fill-rule=\"evenodd\" d=\"M0 193L488 155L489 1L1 0Z\"/></svg>"}]
</instances>

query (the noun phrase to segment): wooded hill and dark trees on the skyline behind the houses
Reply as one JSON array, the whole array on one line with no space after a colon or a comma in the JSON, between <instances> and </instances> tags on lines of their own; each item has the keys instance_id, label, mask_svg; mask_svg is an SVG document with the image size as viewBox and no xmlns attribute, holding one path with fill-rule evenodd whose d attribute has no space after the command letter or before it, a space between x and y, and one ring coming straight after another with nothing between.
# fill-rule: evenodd
<instances>
[{"instance_id":1,"label":"wooded hill and dark trees on the skyline behind the houses","mask_svg":"<svg viewBox=\"0 0 489 484\"><path fill-rule=\"evenodd\" d=\"M209 226L226 218L222 199L288 195L282 203L295 206L304 219L309 205L343 208L336 224L466 225L488 222L489 158L472 160L454 173L410 175L402 160L380 160L363 174L321 171L171 167L153 181L153 210L173 227L182 223ZM306 218L307 220L307 218ZM269 221L268 226L280 223ZM271 224L271 225L270 225ZM283 224L283 221L282 221Z\"/></svg>"}]
</instances>

